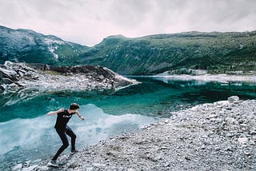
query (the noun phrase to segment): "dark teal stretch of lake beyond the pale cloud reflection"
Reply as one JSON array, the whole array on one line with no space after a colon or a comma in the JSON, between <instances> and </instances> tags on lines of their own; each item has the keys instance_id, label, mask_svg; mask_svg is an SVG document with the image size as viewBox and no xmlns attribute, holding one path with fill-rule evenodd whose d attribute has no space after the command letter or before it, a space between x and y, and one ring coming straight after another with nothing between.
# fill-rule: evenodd
<instances>
[{"instance_id":1,"label":"dark teal stretch of lake beyond the pale cloud reflection","mask_svg":"<svg viewBox=\"0 0 256 171\"><path fill-rule=\"evenodd\" d=\"M9 105L1 105L0 122L14 118L38 117L49 110L68 106L71 102L94 104L105 113L134 113L150 117L170 117L170 111L205 102L226 100L238 95L241 99L256 97L256 84L246 82L181 81L170 78L136 78L142 84L120 89L115 93L54 91L33 92L12 96ZM3 96L5 97L5 96ZM26 98L25 98L26 97ZM6 98L1 98L5 101ZM1 102L3 104L4 102Z\"/></svg>"}]
</instances>

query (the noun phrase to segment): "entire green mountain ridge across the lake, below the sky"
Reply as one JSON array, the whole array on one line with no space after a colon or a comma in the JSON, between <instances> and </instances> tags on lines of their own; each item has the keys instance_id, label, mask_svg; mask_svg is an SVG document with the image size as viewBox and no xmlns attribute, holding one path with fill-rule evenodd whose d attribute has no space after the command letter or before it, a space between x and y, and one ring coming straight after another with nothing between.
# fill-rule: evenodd
<instances>
[{"instance_id":1,"label":"entire green mountain ridge across the lake, below the sky","mask_svg":"<svg viewBox=\"0 0 256 171\"><path fill-rule=\"evenodd\" d=\"M167 70L208 70L213 74L256 71L256 31L186 32L142 38L115 35L87 47L32 30L0 26L0 63L52 66L100 65L118 74L159 74Z\"/></svg>"}]
</instances>

